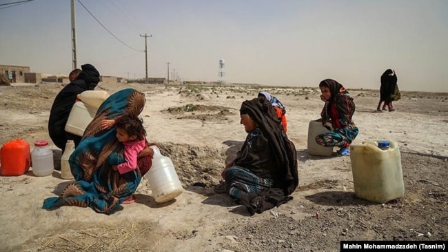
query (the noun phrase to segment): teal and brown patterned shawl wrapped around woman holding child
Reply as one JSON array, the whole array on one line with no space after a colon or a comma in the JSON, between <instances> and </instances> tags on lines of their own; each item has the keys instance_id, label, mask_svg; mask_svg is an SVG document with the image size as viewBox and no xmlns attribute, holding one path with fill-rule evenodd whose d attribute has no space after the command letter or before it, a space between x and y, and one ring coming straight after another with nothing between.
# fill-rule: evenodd
<instances>
[{"instance_id":1,"label":"teal and brown patterned shawl wrapped around woman holding child","mask_svg":"<svg viewBox=\"0 0 448 252\"><path fill-rule=\"evenodd\" d=\"M145 95L132 88L110 95L101 104L69 159L76 181L68 184L59 197L45 199L43 209L89 206L97 213L111 214L134 193L141 182L140 170L122 175L112 170L112 165L124 162L123 144L116 139L115 128L101 130L101 121L123 113L139 115L144 106Z\"/></svg>"}]
</instances>

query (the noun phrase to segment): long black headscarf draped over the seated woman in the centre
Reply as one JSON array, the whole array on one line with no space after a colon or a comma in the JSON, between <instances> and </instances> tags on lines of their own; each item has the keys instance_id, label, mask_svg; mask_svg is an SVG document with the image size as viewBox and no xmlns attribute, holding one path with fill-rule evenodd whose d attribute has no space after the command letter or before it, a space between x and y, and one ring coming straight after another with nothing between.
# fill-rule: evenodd
<instances>
[{"instance_id":1,"label":"long black headscarf draped over the seated woman in the centre","mask_svg":"<svg viewBox=\"0 0 448 252\"><path fill-rule=\"evenodd\" d=\"M298 186L296 147L287 138L274 108L265 97L243 101L240 113L249 115L269 140L270 145L266 146L266 149L272 152L271 156L276 157L275 164L278 173L276 177L281 180L280 183L274 183L280 185L280 188L271 188L263 193L248 193L242 200L251 213L261 213L292 199L287 195L293 193ZM258 204L254 205L253 201L251 203L254 198L260 200Z\"/></svg>"}]
</instances>

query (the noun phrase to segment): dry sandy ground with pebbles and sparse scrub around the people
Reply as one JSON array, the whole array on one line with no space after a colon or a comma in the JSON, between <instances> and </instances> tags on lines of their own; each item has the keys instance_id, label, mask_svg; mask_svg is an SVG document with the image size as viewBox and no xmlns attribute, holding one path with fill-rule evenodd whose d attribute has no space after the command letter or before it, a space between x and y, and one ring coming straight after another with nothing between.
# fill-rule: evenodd
<instances>
[{"instance_id":1,"label":"dry sandy ground with pebbles and sparse scrub around the people","mask_svg":"<svg viewBox=\"0 0 448 252\"><path fill-rule=\"evenodd\" d=\"M0 86L0 144L17 138L52 144L48 116L62 87ZM317 88L101 83L96 89L112 94L129 87L145 93L147 138L172 159L185 191L158 204L142 180L136 203L112 215L75 206L47 211L43 200L70 182L59 171L0 177L0 251L339 251L340 240L448 240L447 93L404 92L396 111L375 113L377 90L349 90L360 128L354 144L392 139L400 146L405 196L374 204L354 194L349 157L307 153L308 123L323 106ZM212 186L245 139L241 102L260 90L287 106L300 183L294 200L251 217ZM52 148L60 166L61 151Z\"/></svg>"}]
</instances>

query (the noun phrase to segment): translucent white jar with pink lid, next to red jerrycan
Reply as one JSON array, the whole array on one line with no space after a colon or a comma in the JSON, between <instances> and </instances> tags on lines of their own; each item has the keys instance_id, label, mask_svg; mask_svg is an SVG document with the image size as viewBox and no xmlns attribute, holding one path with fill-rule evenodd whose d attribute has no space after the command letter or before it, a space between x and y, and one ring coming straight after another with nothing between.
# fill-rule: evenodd
<instances>
[{"instance_id":1,"label":"translucent white jar with pink lid, next to red jerrycan","mask_svg":"<svg viewBox=\"0 0 448 252\"><path fill-rule=\"evenodd\" d=\"M53 151L45 140L34 142L31 152L32 173L38 177L52 175L54 170Z\"/></svg>"}]
</instances>

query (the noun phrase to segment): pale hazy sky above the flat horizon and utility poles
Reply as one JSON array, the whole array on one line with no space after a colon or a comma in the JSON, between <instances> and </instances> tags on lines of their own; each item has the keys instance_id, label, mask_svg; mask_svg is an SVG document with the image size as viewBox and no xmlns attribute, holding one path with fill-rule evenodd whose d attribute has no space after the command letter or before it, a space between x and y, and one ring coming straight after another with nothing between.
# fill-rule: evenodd
<instances>
[{"instance_id":1,"label":"pale hazy sky above the flat horizon and utility poles","mask_svg":"<svg viewBox=\"0 0 448 252\"><path fill-rule=\"evenodd\" d=\"M68 75L70 0L3 5L15 1L0 0L0 64ZM230 83L378 89L394 68L401 90L448 92L447 11L447 0L81 0L77 61L145 77L147 33L148 77L170 62L181 79L217 81L225 59Z\"/></svg>"}]
</instances>

